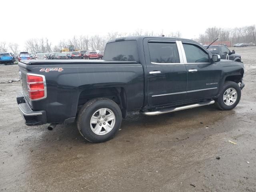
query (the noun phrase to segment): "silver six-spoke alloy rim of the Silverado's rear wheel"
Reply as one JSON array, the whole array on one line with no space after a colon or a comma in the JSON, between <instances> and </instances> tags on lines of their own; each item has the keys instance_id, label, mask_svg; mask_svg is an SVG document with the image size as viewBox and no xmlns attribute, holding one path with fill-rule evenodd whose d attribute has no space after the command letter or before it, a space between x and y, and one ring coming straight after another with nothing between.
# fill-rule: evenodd
<instances>
[{"instance_id":1,"label":"silver six-spoke alloy rim of the Silverado's rear wheel","mask_svg":"<svg viewBox=\"0 0 256 192\"><path fill-rule=\"evenodd\" d=\"M90 127L92 132L95 134L105 135L114 128L115 122L116 116L112 110L108 108L101 108L92 115Z\"/></svg>"}]
</instances>

